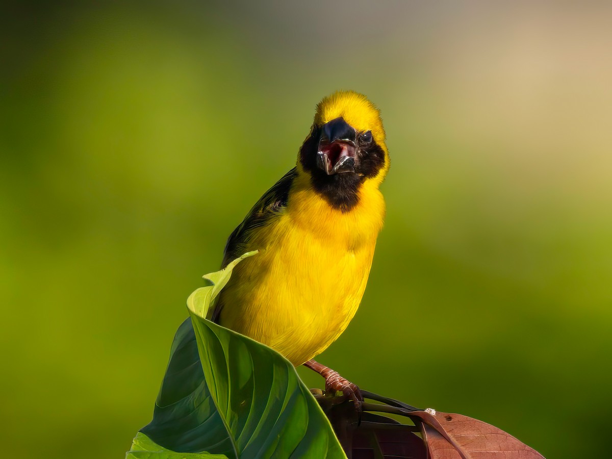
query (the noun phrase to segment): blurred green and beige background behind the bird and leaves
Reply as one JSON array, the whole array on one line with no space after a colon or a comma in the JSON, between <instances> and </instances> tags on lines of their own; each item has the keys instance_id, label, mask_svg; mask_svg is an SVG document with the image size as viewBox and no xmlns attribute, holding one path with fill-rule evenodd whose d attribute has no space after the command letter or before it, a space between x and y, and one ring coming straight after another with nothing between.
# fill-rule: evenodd
<instances>
[{"instance_id":1,"label":"blurred green and beige background behind the bird and leaves","mask_svg":"<svg viewBox=\"0 0 612 459\"><path fill-rule=\"evenodd\" d=\"M185 299L340 88L381 108L392 167L362 306L319 361L550 458L608 455L610 7L6 7L6 457L123 457Z\"/></svg>"}]
</instances>

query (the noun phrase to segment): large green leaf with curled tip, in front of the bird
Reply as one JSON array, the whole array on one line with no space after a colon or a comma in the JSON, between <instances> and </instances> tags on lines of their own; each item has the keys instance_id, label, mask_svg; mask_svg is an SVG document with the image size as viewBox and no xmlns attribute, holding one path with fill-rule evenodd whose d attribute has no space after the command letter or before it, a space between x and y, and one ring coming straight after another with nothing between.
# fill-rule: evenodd
<instances>
[{"instance_id":1,"label":"large green leaf with curled tip, in front of the bird","mask_svg":"<svg viewBox=\"0 0 612 459\"><path fill-rule=\"evenodd\" d=\"M141 432L181 452L345 458L327 417L288 360L205 319L234 266L255 253L204 276L211 285L187 300L191 319L177 331L154 418Z\"/></svg>"}]
</instances>

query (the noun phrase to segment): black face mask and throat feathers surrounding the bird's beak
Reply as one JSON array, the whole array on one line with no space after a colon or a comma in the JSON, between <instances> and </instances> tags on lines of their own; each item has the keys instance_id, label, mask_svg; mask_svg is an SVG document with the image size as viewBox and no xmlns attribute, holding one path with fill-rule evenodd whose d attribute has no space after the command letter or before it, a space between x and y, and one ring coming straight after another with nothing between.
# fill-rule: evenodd
<instances>
[{"instance_id":1,"label":"black face mask and throat feathers surrounding the bird's beak","mask_svg":"<svg viewBox=\"0 0 612 459\"><path fill-rule=\"evenodd\" d=\"M359 165L354 173L327 175L316 165L321 128L315 128L300 148L300 163L310 173L310 180L319 195L334 209L349 212L359 202L359 188L362 183L375 177L384 166L383 149L372 141L359 144Z\"/></svg>"}]
</instances>

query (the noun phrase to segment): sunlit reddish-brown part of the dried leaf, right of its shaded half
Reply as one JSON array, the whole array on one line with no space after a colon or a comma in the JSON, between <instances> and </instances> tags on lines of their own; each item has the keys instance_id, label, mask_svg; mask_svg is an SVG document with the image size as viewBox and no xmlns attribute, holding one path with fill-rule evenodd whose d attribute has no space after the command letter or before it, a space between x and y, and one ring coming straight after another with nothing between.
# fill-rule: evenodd
<instances>
[{"instance_id":1,"label":"sunlit reddish-brown part of the dried leaf, right of its shaded half","mask_svg":"<svg viewBox=\"0 0 612 459\"><path fill-rule=\"evenodd\" d=\"M461 414L416 411L431 459L543 459L509 433Z\"/></svg>"}]
</instances>

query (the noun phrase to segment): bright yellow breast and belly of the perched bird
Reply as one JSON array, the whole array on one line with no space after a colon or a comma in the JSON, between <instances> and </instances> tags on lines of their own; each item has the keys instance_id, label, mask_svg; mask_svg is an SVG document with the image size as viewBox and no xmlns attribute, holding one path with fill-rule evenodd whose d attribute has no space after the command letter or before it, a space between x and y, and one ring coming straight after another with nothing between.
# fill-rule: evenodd
<instances>
[{"instance_id":1,"label":"bright yellow breast and belly of the perched bird","mask_svg":"<svg viewBox=\"0 0 612 459\"><path fill-rule=\"evenodd\" d=\"M260 252L234 269L220 295L220 324L294 365L323 352L364 294L384 215L378 190L371 197L370 206L365 199L343 214L307 187L294 190L286 212L248 242Z\"/></svg>"}]
</instances>

